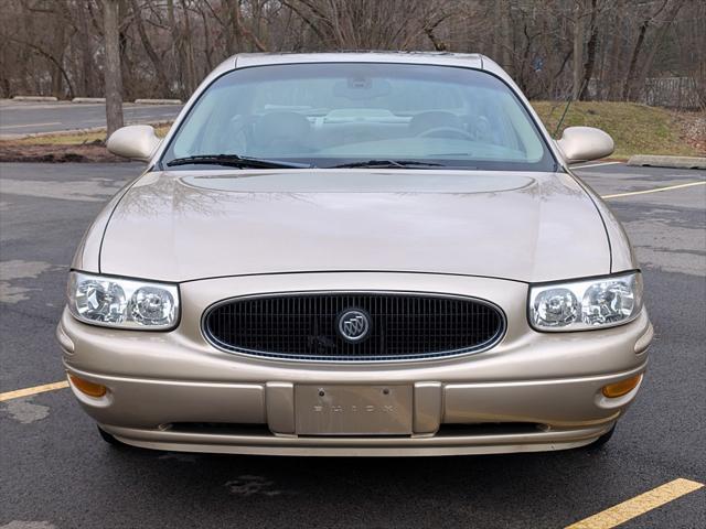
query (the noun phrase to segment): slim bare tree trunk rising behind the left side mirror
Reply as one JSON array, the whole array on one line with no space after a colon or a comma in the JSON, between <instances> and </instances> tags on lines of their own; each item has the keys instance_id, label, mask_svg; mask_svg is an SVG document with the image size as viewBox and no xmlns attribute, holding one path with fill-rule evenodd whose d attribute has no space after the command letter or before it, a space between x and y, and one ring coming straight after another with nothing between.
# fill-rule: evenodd
<instances>
[{"instance_id":1,"label":"slim bare tree trunk rising behind the left side mirror","mask_svg":"<svg viewBox=\"0 0 706 529\"><path fill-rule=\"evenodd\" d=\"M108 137L122 127L122 75L118 32L118 0L103 2L105 35L106 123Z\"/></svg>"}]
</instances>

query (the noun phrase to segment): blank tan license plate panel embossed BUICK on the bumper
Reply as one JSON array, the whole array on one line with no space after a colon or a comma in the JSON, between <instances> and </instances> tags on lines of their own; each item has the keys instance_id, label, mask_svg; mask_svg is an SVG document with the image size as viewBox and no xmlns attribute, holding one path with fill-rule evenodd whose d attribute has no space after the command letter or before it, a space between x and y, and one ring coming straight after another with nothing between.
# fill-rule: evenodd
<instances>
[{"instance_id":1,"label":"blank tan license plate panel embossed BUICK on the bumper","mask_svg":"<svg viewBox=\"0 0 706 529\"><path fill-rule=\"evenodd\" d=\"M298 435L409 435L411 386L297 385Z\"/></svg>"}]
</instances>

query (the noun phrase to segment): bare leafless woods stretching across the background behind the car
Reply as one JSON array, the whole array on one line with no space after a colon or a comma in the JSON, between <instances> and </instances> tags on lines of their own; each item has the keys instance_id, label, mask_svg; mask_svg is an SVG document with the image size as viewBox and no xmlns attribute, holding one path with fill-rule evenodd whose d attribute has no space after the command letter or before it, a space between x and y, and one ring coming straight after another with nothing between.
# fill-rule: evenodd
<instances>
[{"instance_id":1,"label":"bare leafless woods stretching across the background behind the car","mask_svg":"<svg viewBox=\"0 0 706 529\"><path fill-rule=\"evenodd\" d=\"M533 99L706 108L705 0L2 0L0 96L185 99L239 52L437 50L494 58ZM118 53L106 54L106 7ZM115 89L116 87L108 87ZM118 89L120 87L117 87Z\"/></svg>"}]
</instances>

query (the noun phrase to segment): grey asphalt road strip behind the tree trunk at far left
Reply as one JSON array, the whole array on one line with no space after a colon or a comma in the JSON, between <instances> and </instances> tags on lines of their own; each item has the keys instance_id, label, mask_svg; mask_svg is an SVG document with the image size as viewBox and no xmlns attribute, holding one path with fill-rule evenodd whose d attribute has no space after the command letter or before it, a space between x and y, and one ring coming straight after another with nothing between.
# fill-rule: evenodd
<instances>
[{"instance_id":1,"label":"grey asphalt road strip behind the tree trunk at far left","mask_svg":"<svg viewBox=\"0 0 706 529\"><path fill-rule=\"evenodd\" d=\"M124 105L126 125L171 121L181 105ZM106 126L103 102L32 102L0 100L0 139L18 134L92 129Z\"/></svg>"}]
</instances>

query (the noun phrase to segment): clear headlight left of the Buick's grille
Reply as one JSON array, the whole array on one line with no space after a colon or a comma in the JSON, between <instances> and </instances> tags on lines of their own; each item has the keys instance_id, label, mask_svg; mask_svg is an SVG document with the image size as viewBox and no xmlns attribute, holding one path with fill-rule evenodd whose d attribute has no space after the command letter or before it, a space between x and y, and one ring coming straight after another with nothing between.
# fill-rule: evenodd
<instances>
[{"instance_id":1,"label":"clear headlight left of the Buick's grille","mask_svg":"<svg viewBox=\"0 0 706 529\"><path fill-rule=\"evenodd\" d=\"M68 309L85 323L163 331L179 320L179 289L174 284L71 272Z\"/></svg>"}]
</instances>

